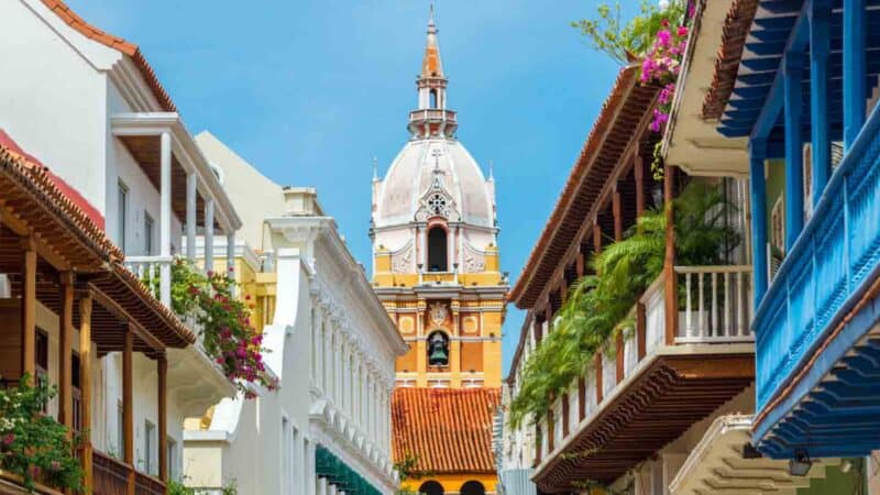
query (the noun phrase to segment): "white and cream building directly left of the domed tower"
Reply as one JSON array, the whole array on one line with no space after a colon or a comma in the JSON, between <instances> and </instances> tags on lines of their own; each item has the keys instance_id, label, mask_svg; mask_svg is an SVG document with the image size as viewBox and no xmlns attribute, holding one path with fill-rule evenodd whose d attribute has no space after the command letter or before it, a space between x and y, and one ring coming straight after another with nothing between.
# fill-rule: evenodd
<instances>
[{"instance_id":1,"label":"white and cream building directly left of the domed tower","mask_svg":"<svg viewBox=\"0 0 880 495\"><path fill-rule=\"evenodd\" d=\"M188 425L187 483L220 491L234 480L249 494L393 494L391 394L406 346L363 266L314 189L274 184L210 133L198 143L245 219L234 240L237 276L279 387L223 400Z\"/></svg>"}]
</instances>

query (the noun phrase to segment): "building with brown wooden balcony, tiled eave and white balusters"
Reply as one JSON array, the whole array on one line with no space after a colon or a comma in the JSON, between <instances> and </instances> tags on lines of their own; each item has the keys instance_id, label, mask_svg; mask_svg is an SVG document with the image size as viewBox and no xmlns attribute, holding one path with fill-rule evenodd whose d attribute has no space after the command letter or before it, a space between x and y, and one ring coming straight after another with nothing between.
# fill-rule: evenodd
<instances>
[{"instance_id":1,"label":"building with brown wooden balcony, tiled eave and white balusters","mask_svg":"<svg viewBox=\"0 0 880 495\"><path fill-rule=\"evenodd\" d=\"M638 232L637 219L666 211L663 267L635 297L622 328L587 360L549 408L508 431L506 494L593 493L597 488L664 495L713 418L749 410L754 337L749 331L750 274L741 245L721 263L676 261L673 199L689 184L711 183L736 205L741 184L700 179L667 166L651 173L660 135L649 129L658 88L639 82L640 66L623 68L596 118L560 200L536 242L510 299L528 311L507 378L512 398L526 363L548 340L576 280L595 274L594 260ZM746 229L743 209L721 220Z\"/></svg>"}]
</instances>

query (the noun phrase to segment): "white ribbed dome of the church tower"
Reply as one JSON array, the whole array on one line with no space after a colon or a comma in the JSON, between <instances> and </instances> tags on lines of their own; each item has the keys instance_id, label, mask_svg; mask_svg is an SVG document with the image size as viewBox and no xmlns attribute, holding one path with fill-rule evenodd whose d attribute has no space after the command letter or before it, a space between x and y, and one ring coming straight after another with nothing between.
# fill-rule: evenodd
<instances>
[{"instance_id":1,"label":"white ribbed dome of the church tower","mask_svg":"<svg viewBox=\"0 0 880 495\"><path fill-rule=\"evenodd\" d=\"M410 141L392 163L375 198L375 228L443 217L495 227L494 191L480 165L452 139Z\"/></svg>"}]
</instances>

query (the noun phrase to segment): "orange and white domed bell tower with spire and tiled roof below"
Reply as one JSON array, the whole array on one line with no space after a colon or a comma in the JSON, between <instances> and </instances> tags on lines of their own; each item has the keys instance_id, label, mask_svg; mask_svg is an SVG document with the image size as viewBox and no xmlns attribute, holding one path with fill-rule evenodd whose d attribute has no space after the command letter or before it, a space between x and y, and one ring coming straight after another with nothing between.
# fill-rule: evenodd
<instances>
[{"instance_id":1,"label":"orange and white domed bell tower with spire and tiled roof below","mask_svg":"<svg viewBox=\"0 0 880 495\"><path fill-rule=\"evenodd\" d=\"M507 290L494 182L455 138L447 84L431 15L410 139L384 179L373 179L371 228L373 289L409 344L396 365L395 460L432 473L406 485L431 495L493 490ZM437 409L449 417L437 420Z\"/></svg>"}]
</instances>

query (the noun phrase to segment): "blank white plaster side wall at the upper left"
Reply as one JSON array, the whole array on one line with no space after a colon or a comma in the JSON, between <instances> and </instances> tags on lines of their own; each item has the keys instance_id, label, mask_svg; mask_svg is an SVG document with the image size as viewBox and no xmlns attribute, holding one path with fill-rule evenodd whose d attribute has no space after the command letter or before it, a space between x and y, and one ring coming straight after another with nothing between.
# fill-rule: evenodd
<instances>
[{"instance_id":1,"label":"blank white plaster side wall at the upper left","mask_svg":"<svg viewBox=\"0 0 880 495\"><path fill-rule=\"evenodd\" d=\"M0 2L0 128L106 211L101 70L121 55L76 33L40 0Z\"/></svg>"}]
</instances>

